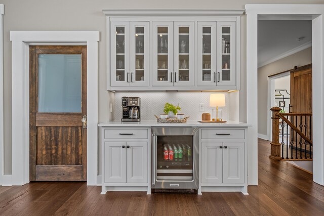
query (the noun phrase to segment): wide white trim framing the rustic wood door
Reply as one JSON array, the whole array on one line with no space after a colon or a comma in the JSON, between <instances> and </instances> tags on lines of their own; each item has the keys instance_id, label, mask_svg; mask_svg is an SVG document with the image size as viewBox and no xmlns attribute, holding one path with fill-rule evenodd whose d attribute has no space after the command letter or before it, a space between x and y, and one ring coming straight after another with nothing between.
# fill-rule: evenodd
<instances>
[{"instance_id":1,"label":"wide white trim framing the rustic wood door","mask_svg":"<svg viewBox=\"0 0 324 216\"><path fill-rule=\"evenodd\" d=\"M97 185L98 31L10 31L12 41L12 185L29 182L29 45L87 45L87 185Z\"/></svg>"}]
</instances>

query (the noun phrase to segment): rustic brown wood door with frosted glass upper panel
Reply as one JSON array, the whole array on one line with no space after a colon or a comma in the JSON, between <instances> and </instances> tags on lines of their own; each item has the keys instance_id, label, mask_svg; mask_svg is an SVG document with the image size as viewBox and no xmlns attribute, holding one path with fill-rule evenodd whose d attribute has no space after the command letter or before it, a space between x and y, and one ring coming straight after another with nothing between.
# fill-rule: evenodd
<instances>
[{"instance_id":1,"label":"rustic brown wood door with frosted glass upper panel","mask_svg":"<svg viewBox=\"0 0 324 216\"><path fill-rule=\"evenodd\" d=\"M86 181L87 47L30 46L29 61L29 180Z\"/></svg>"}]
</instances>

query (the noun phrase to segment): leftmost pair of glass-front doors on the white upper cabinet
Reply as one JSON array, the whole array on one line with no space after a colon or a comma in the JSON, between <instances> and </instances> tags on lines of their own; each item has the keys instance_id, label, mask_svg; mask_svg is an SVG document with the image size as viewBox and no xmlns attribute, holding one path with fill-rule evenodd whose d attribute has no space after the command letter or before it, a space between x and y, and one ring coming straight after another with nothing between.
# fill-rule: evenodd
<instances>
[{"instance_id":1,"label":"leftmost pair of glass-front doors on the white upper cabinet","mask_svg":"<svg viewBox=\"0 0 324 216\"><path fill-rule=\"evenodd\" d=\"M111 22L111 86L149 85L149 22Z\"/></svg>"}]
</instances>

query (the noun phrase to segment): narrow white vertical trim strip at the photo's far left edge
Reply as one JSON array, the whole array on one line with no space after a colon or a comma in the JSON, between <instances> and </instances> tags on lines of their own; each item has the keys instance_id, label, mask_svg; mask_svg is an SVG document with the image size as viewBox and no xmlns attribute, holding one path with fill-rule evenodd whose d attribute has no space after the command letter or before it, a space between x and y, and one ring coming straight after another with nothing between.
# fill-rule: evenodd
<instances>
[{"instance_id":1,"label":"narrow white vertical trim strip at the photo's far left edge","mask_svg":"<svg viewBox=\"0 0 324 216\"><path fill-rule=\"evenodd\" d=\"M0 4L0 186L4 175L4 21L5 6Z\"/></svg>"}]
</instances>

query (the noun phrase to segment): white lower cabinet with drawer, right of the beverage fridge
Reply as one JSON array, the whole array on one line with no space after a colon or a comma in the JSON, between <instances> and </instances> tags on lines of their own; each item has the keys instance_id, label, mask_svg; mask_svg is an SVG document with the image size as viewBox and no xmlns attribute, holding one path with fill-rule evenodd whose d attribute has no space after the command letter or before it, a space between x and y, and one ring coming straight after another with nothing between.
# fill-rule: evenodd
<instances>
[{"instance_id":1,"label":"white lower cabinet with drawer, right of the beverage fridge","mask_svg":"<svg viewBox=\"0 0 324 216\"><path fill-rule=\"evenodd\" d=\"M202 128L201 191L247 194L247 128Z\"/></svg>"}]
</instances>

